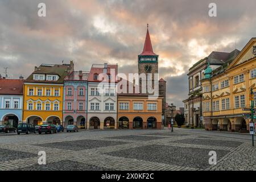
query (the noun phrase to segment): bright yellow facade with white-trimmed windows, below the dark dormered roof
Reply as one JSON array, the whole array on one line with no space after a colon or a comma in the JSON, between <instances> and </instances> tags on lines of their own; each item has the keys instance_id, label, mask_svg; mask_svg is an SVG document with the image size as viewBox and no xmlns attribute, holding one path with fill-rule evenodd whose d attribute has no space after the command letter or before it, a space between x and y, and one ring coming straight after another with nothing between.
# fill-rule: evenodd
<instances>
[{"instance_id":1,"label":"bright yellow facade with white-trimmed windows, below the dark dormered roof","mask_svg":"<svg viewBox=\"0 0 256 182\"><path fill-rule=\"evenodd\" d=\"M62 125L63 84L25 82L23 90L23 122L34 123L34 125L43 123Z\"/></svg>"}]
</instances>

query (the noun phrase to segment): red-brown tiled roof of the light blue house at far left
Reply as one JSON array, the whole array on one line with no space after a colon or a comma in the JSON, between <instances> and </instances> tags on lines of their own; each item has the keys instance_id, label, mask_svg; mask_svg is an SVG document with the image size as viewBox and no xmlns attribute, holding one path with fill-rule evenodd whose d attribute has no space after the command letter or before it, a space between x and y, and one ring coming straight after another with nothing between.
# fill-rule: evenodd
<instances>
[{"instance_id":1,"label":"red-brown tiled roof of the light blue house at far left","mask_svg":"<svg viewBox=\"0 0 256 182\"><path fill-rule=\"evenodd\" d=\"M23 81L20 79L0 79L0 94L23 95Z\"/></svg>"}]
</instances>

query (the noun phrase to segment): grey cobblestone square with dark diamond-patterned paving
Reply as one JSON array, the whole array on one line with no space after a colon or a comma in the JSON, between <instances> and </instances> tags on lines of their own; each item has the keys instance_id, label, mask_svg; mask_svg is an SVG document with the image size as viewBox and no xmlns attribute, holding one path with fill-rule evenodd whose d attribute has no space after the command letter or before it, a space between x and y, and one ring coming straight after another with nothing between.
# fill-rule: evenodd
<instances>
[{"instance_id":1,"label":"grey cobblestone square with dark diamond-patterned paving","mask_svg":"<svg viewBox=\"0 0 256 182\"><path fill-rule=\"evenodd\" d=\"M197 171L256 168L251 136L204 130L81 130L78 133L0 134L0 170ZM46 165L39 165L46 151ZM209 152L217 164L209 164Z\"/></svg>"}]
</instances>

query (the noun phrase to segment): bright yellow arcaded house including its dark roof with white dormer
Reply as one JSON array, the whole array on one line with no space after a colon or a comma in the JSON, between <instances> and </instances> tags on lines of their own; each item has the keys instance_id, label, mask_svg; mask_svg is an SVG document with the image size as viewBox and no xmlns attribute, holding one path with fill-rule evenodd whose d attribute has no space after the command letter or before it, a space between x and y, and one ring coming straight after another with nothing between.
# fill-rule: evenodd
<instances>
[{"instance_id":1,"label":"bright yellow arcaded house including its dark roof with white dormer","mask_svg":"<svg viewBox=\"0 0 256 182\"><path fill-rule=\"evenodd\" d=\"M73 69L73 61L70 64L42 64L35 67L23 85L23 122L62 125L64 78Z\"/></svg>"}]
</instances>

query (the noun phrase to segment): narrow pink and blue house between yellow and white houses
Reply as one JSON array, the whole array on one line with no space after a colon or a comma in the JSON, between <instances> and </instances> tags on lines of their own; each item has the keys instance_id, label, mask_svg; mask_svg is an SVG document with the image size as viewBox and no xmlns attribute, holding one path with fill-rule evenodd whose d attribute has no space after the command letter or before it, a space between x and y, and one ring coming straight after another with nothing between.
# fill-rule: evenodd
<instances>
[{"instance_id":1,"label":"narrow pink and blue house between yellow and white houses","mask_svg":"<svg viewBox=\"0 0 256 182\"><path fill-rule=\"evenodd\" d=\"M89 72L73 71L64 79L63 123L86 128Z\"/></svg>"}]
</instances>

